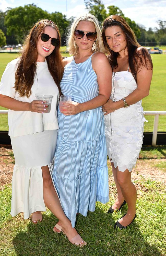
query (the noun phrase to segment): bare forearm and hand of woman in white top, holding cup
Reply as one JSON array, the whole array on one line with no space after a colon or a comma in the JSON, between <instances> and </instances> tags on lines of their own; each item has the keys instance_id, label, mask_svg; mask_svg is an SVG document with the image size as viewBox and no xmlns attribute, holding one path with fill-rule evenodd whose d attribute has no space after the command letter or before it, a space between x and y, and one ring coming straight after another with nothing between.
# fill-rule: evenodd
<instances>
[{"instance_id":1,"label":"bare forearm and hand of woman in white top, holding cup","mask_svg":"<svg viewBox=\"0 0 166 256\"><path fill-rule=\"evenodd\" d=\"M44 102L34 100L32 102L24 102L15 100L9 96L0 94L0 105L4 108L8 108L15 111L31 111L37 113L46 113L47 108L44 105Z\"/></svg>"}]
</instances>

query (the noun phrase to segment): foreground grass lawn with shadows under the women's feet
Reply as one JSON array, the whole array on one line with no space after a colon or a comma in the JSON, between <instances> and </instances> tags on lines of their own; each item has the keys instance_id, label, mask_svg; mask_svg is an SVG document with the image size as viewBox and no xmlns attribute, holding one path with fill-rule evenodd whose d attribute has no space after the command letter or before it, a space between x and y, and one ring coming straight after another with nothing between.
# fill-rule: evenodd
<instances>
[{"instance_id":1,"label":"foreground grass lawn with shadows under the women's feet","mask_svg":"<svg viewBox=\"0 0 166 256\"><path fill-rule=\"evenodd\" d=\"M5 155L6 153L1 154ZM6 157L4 164L6 168L8 168L8 161L13 161L10 156L11 152ZM77 216L76 229L88 242L88 245L82 249L70 244L63 234L53 233L52 229L57 219L48 209L43 212L43 221L37 225L32 224L29 219L24 220L23 214L12 218L10 216L11 185L5 186L0 191L0 256L166 255L164 184L162 178L160 181L156 178L166 171L166 165L163 171L158 166L153 167L154 172L158 174L154 176L154 179L151 179L150 171L146 178L144 176L146 172L144 164L148 162L148 168L151 170L151 161L166 164L165 156L166 146L144 147L141 150L141 159L138 160L132 173L132 179L137 187L137 217L131 226L124 230L114 230L113 226L116 220L126 213L127 206L124 206L121 212L112 215L106 213L116 197L112 170L108 162L110 202L106 205L97 202L96 210L88 212L86 218L82 215ZM156 160L152 159L154 157ZM139 165L141 169L144 168L141 173ZM159 169L155 170L155 168Z\"/></svg>"}]
</instances>

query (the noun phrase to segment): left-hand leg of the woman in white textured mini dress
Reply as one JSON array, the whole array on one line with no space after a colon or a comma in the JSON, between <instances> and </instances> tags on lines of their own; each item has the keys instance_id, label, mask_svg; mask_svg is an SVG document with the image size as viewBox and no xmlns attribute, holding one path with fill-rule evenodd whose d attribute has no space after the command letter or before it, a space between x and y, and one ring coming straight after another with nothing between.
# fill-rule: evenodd
<instances>
[{"instance_id":1,"label":"left-hand leg of the woman in white textured mini dress","mask_svg":"<svg viewBox=\"0 0 166 256\"><path fill-rule=\"evenodd\" d=\"M116 173L118 171L118 167L115 168L113 163L111 163L111 165L112 165L112 173L113 173L113 176L114 176L115 185L116 185L116 188L117 188L117 198L116 198L114 204L112 205L112 209L117 210L117 209L120 208L120 206L124 202L124 197L123 197L121 188L120 188L120 186L117 182Z\"/></svg>"}]
</instances>

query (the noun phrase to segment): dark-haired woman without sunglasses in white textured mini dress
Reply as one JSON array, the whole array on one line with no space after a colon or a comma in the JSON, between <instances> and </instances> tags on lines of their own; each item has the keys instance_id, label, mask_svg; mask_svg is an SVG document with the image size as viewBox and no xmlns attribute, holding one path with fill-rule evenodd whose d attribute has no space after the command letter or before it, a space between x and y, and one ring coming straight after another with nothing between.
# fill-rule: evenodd
<instances>
[{"instance_id":1,"label":"dark-haired woman without sunglasses in white textured mini dress","mask_svg":"<svg viewBox=\"0 0 166 256\"><path fill-rule=\"evenodd\" d=\"M114 226L122 229L136 217L137 193L131 171L143 141L146 120L141 99L149 94L152 61L121 16L112 15L104 20L102 37L113 69L111 98L103 105L103 112L107 151L118 193L108 213L127 203L127 213Z\"/></svg>"}]
</instances>

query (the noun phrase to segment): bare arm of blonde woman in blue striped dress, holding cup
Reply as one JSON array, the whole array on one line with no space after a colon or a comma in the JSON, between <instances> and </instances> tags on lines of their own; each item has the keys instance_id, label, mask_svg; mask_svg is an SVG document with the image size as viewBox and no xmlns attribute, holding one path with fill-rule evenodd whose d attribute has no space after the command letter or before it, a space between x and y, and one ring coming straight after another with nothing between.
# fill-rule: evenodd
<instances>
[{"instance_id":1,"label":"bare arm of blonde woman in blue striped dress, holding cup","mask_svg":"<svg viewBox=\"0 0 166 256\"><path fill-rule=\"evenodd\" d=\"M112 90L112 69L106 55L101 52L96 53L92 57L92 67L97 74L99 95L84 103L73 101L71 103L63 103L63 110L61 111L63 114L77 114L86 110L98 108L110 98Z\"/></svg>"}]
</instances>

